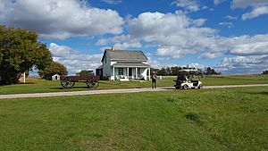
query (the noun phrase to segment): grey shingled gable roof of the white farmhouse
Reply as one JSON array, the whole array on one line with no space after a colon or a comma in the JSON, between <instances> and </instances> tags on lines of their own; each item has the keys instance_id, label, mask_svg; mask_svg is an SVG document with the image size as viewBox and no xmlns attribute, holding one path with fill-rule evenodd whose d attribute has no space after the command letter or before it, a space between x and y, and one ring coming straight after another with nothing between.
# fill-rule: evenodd
<instances>
[{"instance_id":1,"label":"grey shingled gable roof of the white farmhouse","mask_svg":"<svg viewBox=\"0 0 268 151\"><path fill-rule=\"evenodd\" d=\"M111 60L132 60L132 61L147 61L148 58L140 50L111 50L105 49L102 62L105 59L105 55L109 55Z\"/></svg>"}]
</instances>

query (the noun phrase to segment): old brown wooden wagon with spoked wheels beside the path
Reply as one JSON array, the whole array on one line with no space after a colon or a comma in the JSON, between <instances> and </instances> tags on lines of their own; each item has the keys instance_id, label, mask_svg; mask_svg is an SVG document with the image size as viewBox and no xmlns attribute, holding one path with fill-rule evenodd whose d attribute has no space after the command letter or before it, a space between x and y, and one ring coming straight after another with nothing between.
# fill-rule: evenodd
<instances>
[{"instance_id":1,"label":"old brown wooden wagon with spoked wheels beside the path","mask_svg":"<svg viewBox=\"0 0 268 151\"><path fill-rule=\"evenodd\" d=\"M96 88L98 86L99 76L61 76L61 84L63 88L72 88L75 82L84 82L88 88Z\"/></svg>"}]
</instances>

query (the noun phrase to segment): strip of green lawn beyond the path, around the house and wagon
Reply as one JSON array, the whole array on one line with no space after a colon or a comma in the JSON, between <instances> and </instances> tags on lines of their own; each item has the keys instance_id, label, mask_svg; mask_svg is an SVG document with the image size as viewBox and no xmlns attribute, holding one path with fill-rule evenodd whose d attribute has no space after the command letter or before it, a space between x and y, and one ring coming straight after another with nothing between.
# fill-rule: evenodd
<instances>
[{"instance_id":1,"label":"strip of green lawn beyond the path, around the house and wagon","mask_svg":"<svg viewBox=\"0 0 268 151\"><path fill-rule=\"evenodd\" d=\"M157 87L172 87L175 78L163 78L157 80ZM215 85L235 85L235 84L261 84L268 83L268 75L235 75L235 76L210 76L201 78L205 86ZM41 80L38 78L28 78L27 84L0 86L0 95L6 94L21 94L21 93L44 93L44 92L65 92L91 90L86 87L85 83L76 83L74 88L63 89L60 81ZM111 88L149 88L150 81L107 81L99 82L96 89L111 89Z\"/></svg>"}]
</instances>

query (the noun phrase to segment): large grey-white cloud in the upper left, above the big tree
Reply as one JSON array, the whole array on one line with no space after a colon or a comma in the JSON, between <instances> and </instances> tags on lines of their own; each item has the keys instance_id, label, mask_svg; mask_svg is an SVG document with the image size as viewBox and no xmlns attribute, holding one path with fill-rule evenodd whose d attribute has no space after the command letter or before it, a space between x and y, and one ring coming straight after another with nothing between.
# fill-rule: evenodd
<instances>
[{"instance_id":1,"label":"large grey-white cloud in the upper left, above the big tree","mask_svg":"<svg viewBox=\"0 0 268 151\"><path fill-rule=\"evenodd\" d=\"M79 0L0 0L0 22L32 29L41 38L70 38L120 34L123 19L116 11L89 6Z\"/></svg>"}]
</instances>

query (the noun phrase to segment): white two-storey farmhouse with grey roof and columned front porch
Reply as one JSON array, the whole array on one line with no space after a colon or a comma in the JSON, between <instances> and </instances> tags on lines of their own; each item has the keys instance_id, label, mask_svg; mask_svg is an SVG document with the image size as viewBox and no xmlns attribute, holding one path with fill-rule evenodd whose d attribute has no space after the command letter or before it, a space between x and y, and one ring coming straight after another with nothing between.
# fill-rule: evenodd
<instances>
[{"instance_id":1,"label":"white two-storey farmhouse with grey roof and columned front porch","mask_svg":"<svg viewBox=\"0 0 268 151\"><path fill-rule=\"evenodd\" d=\"M104 80L147 80L150 79L148 58L142 51L105 49L102 65L96 74Z\"/></svg>"}]
</instances>

